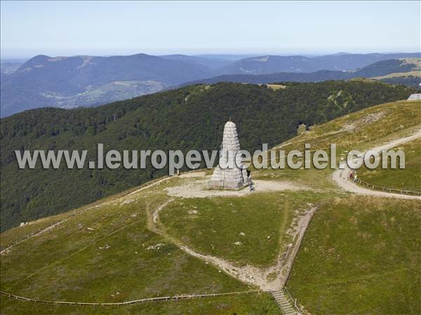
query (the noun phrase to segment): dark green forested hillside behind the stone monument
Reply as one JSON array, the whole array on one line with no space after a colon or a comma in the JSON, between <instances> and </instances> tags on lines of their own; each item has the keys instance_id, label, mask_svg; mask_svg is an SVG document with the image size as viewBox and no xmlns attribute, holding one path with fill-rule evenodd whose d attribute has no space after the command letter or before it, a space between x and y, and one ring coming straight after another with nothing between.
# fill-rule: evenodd
<instances>
[{"instance_id":1,"label":"dark green forested hillside behind the stone monument","mask_svg":"<svg viewBox=\"0 0 421 315\"><path fill-rule=\"evenodd\" d=\"M285 83L284 83L285 84ZM95 108L42 108L1 119L1 231L53 215L165 175L166 170L65 168L19 170L24 149L218 149L231 117L243 149L279 144L299 123L324 123L349 112L408 98L385 83L286 83L285 89L241 83L186 86Z\"/></svg>"}]
</instances>

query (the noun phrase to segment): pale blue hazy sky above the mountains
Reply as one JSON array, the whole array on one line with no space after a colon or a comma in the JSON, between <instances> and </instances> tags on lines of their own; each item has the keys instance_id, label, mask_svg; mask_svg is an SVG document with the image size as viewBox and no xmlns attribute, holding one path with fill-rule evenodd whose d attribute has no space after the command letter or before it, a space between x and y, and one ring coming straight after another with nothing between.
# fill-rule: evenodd
<instances>
[{"instance_id":1,"label":"pale blue hazy sky above the mountains","mask_svg":"<svg viewBox=\"0 0 421 315\"><path fill-rule=\"evenodd\" d=\"M420 51L420 1L1 1L1 57Z\"/></svg>"}]
</instances>

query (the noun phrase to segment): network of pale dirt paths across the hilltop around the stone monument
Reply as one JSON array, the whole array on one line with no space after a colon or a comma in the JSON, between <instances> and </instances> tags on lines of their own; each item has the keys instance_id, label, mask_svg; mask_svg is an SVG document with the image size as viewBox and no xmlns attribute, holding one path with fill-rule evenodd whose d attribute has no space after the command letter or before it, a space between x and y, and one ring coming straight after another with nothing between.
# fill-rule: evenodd
<instances>
[{"instance_id":1,"label":"network of pale dirt paths across the hilltop around the stone monument","mask_svg":"<svg viewBox=\"0 0 421 315\"><path fill-rule=\"evenodd\" d=\"M392 142L389 142L387 145L375 147L372 150L374 150L377 153L380 153L382 152L382 150L391 149L393 147L402 145L403 143L409 142L411 140L415 140L417 138L421 138L420 130L417 131L417 133L413 135L394 140ZM352 181L350 181L347 178L349 171L350 169L345 163L345 168L335 170L335 172L333 173L333 180L340 187L342 187L342 189L345 189L347 192L353 192L355 194L363 194L363 195L368 195L368 196L383 196L383 197L393 197L393 198L401 198L401 199L421 200L420 196L393 194L393 193L380 192L380 191L375 191L375 190L359 187L358 185L355 185ZM185 174L180 175L180 177L181 178L189 178L189 177L206 178L206 173L198 171L194 173L185 173ZM171 177L164 177L161 180L157 180L156 182L153 182L150 185L146 185L145 187L137 189L134 192L127 194L126 196L122 196L113 201L105 201L104 203L100 203L98 205L85 208L78 213L74 213L70 215L69 217L86 212L86 210L90 210L91 208L104 206L105 204L108 204L108 203L118 203L121 199L124 199L133 194L137 194L138 192L141 192L144 189L148 189L150 187L154 187L155 185L159 185L161 182L166 181L170 178ZM239 191L210 190L210 189L207 189L206 184L207 184L206 179L195 180L194 182L189 182L186 185L182 185L179 187L169 187L166 189L166 191L168 192L170 196L183 197L183 198L193 198L193 197L204 198L208 196L245 196L247 194L254 193L254 192L250 192L249 189L247 188L239 190ZM265 181L265 180L255 180L255 187L257 189L257 192L309 189L307 187L293 185L290 182L277 182L277 181ZM251 265L237 267L234 264L228 262L227 260L223 260L219 257L197 253L194 250L192 250L192 248L189 248L188 246L181 243L180 241L173 239L171 236L168 236L166 232L163 232L163 230L159 227L159 224L160 224L159 212L163 208L165 208L168 205L168 203L170 203L172 200L173 199L166 201L166 203L163 203L161 206L156 208L152 213L149 213L151 215L149 224L148 224L149 229L152 229L154 232L160 234L161 236L163 236L163 238L167 239L168 241L171 241L171 243L175 243L175 245L178 246L185 253L192 255L194 257L197 257L201 260L204 260L207 263L211 263L215 265L216 267L218 267L219 269L222 269L225 272L227 272L227 274L234 276L236 279L239 279L240 281L243 281L245 283L250 283L255 286L258 286L261 290L280 290L281 288L283 288L286 281L288 280L290 269L292 268L293 262L295 260L295 256L297 255L298 250L300 248L303 236L305 235L307 227L309 226L309 222L311 222L312 217L314 213L316 213L316 210L317 210L315 206L310 206L310 208L306 210L305 213L297 217L297 219L295 220L293 224L293 242L289 244L286 250L286 253L279 253L279 257L276 264L269 267L264 267L264 268L258 268ZM32 238L34 236L39 236L41 234L44 234L50 231L54 227L57 227L59 224L66 222L69 219L69 217L66 217L58 222L55 222L51 224L50 226L44 229L41 229L39 232L35 232L34 234L31 234L25 237L24 239L21 239L15 243L12 243L11 246L7 246L6 248L3 248L1 250L1 254L8 253L8 251L11 250L13 246L17 245L18 243L21 243L22 241L25 241L29 238Z\"/></svg>"}]
</instances>

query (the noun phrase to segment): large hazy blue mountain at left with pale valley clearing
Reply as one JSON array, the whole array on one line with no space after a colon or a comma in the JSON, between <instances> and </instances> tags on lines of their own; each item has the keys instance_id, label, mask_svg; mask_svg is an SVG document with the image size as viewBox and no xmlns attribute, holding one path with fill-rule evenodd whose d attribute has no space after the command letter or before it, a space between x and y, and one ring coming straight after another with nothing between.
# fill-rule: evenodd
<instances>
[{"instance_id":1,"label":"large hazy blue mountain at left with pale valley clearing","mask_svg":"<svg viewBox=\"0 0 421 315\"><path fill-rule=\"evenodd\" d=\"M38 55L1 80L1 116L36 107L100 105L212 75L210 69L196 62L145 54Z\"/></svg>"}]
</instances>

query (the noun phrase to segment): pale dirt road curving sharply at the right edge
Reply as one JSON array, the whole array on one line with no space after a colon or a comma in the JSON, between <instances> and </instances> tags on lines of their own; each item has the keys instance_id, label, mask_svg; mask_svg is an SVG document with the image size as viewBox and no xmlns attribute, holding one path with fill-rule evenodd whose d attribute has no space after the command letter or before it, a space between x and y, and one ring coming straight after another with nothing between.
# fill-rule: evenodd
<instances>
[{"instance_id":1,"label":"pale dirt road curving sharply at the right edge","mask_svg":"<svg viewBox=\"0 0 421 315\"><path fill-rule=\"evenodd\" d=\"M417 130L416 133L413 135L410 135L408 137L399 138L392 142L387 143L387 145L381 145L379 147L375 147L371 150L377 152L377 154L380 154L383 150L392 149L393 147L396 147L398 145L403 145L406 142L410 142L412 140L415 140L417 138L421 138L421 130ZM358 159L363 159L358 158ZM367 188L363 188L359 185L354 184L352 180L349 180L349 173L351 172L351 168L347 165L347 163L342 162L340 164L340 167L337 170L333 172L333 181L336 182L338 186L340 186L342 189L346 190L347 192L353 192L354 194L362 194L365 196L380 196L380 197L392 197L392 198L400 198L400 199L418 199L421 200L420 196L409 196L409 195L403 195L403 194L394 194L390 192L380 192L377 190L371 190Z\"/></svg>"}]
</instances>

